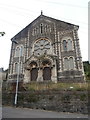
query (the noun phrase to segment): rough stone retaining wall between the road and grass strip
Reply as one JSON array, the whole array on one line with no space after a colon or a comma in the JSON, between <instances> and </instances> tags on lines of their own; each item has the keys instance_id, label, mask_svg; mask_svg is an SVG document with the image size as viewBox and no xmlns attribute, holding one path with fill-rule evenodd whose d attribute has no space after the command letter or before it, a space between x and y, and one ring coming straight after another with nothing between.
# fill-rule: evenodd
<instances>
[{"instance_id":1,"label":"rough stone retaining wall between the road and grass strip","mask_svg":"<svg viewBox=\"0 0 90 120\"><path fill-rule=\"evenodd\" d=\"M14 105L14 93L3 93L3 105ZM87 114L86 91L43 90L18 93L18 106L58 112Z\"/></svg>"}]
</instances>

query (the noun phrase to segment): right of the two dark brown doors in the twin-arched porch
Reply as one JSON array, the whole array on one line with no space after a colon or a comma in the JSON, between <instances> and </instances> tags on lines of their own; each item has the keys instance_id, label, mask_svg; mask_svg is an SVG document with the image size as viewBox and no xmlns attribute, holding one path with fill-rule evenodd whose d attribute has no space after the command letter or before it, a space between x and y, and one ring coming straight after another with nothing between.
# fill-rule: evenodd
<instances>
[{"instance_id":1,"label":"right of the two dark brown doors in the twin-arched porch","mask_svg":"<svg viewBox=\"0 0 90 120\"><path fill-rule=\"evenodd\" d=\"M51 80L51 69L50 69L50 67L44 67L44 69L43 69L43 80Z\"/></svg>"}]
</instances>

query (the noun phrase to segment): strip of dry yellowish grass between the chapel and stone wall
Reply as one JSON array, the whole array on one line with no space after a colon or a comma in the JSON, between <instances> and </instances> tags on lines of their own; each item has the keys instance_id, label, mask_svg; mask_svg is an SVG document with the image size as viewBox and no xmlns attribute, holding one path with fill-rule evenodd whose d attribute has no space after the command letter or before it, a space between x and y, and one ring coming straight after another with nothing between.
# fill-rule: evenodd
<instances>
[{"instance_id":1,"label":"strip of dry yellowish grass between the chapel and stone wall","mask_svg":"<svg viewBox=\"0 0 90 120\"><path fill-rule=\"evenodd\" d=\"M25 84L24 87L27 91L37 91L37 90L77 90L77 91L84 91L87 90L88 84L87 83L30 83Z\"/></svg>"}]
</instances>

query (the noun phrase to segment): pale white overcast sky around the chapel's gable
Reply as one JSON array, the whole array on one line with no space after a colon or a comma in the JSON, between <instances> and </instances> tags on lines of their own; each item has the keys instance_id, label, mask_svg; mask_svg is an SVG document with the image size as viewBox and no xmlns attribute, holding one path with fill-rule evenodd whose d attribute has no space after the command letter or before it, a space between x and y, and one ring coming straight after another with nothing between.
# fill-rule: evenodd
<instances>
[{"instance_id":1,"label":"pale white overcast sky around the chapel's gable","mask_svg":"<svg viewBox=\"0 0 90 120\"><path fill-rule=\"evenodd\" d=\"M40 14L79 25L82 60L88 60L88 0L0 0L0 68L9 66L11 38Z\"/></svg>"}]
</instances>

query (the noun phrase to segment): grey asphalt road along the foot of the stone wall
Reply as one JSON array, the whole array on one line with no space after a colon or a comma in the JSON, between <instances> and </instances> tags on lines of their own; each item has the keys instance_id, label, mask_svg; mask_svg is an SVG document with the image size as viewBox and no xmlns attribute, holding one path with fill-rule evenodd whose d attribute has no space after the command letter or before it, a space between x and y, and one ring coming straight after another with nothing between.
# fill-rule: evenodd
<instances>
[{"instance_id":1,"label":"grey asphalt road along the foot of the stone wall","mask_svg":"<svg viewBox=\"0 0 90 120\"><path fill-rule=\"evenodd\" d=\"M52 112L29 108L2 108L3 118L88 118L87 115L77 113Z\"/></svg>"}]
</instances>

